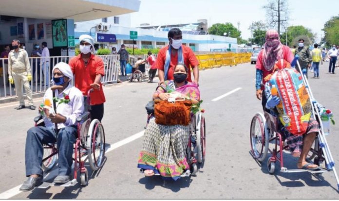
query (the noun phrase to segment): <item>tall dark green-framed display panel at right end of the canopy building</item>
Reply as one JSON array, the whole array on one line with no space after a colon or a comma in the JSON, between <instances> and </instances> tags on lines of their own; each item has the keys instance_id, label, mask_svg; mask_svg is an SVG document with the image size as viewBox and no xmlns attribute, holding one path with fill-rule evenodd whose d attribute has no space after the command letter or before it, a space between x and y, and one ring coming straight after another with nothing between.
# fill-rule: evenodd
<instances>
[{"instance_id":1,"label":"tall dark green-framed display panel at right end of the canopy building","mask_svg":"<svg viewBox=\"0 0 339 201\"><path fill-rule=\"evenodd\" d=\"M67 47L67 20L52 20L53 47ZM67 52L67 50L66 50Z\"/></svg>"}]
</instances>

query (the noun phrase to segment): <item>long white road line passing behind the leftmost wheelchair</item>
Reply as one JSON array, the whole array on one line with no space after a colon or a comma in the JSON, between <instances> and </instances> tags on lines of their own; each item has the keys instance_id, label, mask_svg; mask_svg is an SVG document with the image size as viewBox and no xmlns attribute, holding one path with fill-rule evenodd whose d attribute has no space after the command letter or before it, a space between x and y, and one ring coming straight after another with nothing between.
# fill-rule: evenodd
<instances>
[{"instance_id":1,"label":"long white road line passing behind the leftmost wheelchair","mask_svg":"<svg viewBox=\"0 0 339 201\"><path fill-rule=\"evenodd\" d=\"M109 149L106 150L105 153L108 153L110 151L113 151L121 146L124 146L140 137L142 137L144 135L145 131L141 131L137 134L133 134L132 136L129 136L119 142L116 142L114 144L111 145L111 147ZM5 192L2 192L0 194L0 199L10 199L12 198L13 196L16 196L18 195L19 193L21 193L21 191L19 191L19 188L20 188L21 184L18 185L18 186L15 186L14 188L11 188L9 190L6 190Z\"/></svg>"}]
</instances>

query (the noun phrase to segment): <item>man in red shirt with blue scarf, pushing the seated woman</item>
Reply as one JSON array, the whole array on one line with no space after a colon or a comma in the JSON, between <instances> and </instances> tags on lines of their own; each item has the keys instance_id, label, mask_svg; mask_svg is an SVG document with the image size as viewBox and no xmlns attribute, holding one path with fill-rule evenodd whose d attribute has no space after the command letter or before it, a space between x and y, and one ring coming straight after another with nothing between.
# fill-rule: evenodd
<instances>
[{"instance_id":1,"label":"man in red shirt with blue scarf, pushing the seated woman","mask_svg":"<svg viewBox=\"0 0 339 201\"><path fill-rule=\"evenodd\" d=\"M194 81L199 83L199 62L193 51L182 45L183 34L180 29L173 28L169 30L169 46L162 48L156 59L155 66L159 69L158 76L160 83L165 80L173 80L173 69L178 63L184 63L188 67L187 81L192 82L190 68L193 69Z\"/></svg>"}]
</instances>

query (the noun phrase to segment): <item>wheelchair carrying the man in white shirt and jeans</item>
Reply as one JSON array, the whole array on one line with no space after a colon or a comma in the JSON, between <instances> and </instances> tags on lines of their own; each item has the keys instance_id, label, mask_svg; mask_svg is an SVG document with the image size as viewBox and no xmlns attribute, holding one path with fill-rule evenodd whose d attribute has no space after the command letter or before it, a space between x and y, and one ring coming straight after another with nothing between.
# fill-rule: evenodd
<instances>
[{"instance_id":1,"label":"wheelchair carrying the man in white shirt and jeans","mask_svg":"<svg viewBox=\"0 0 339 201\"><path fill-rule=\"evenodd\" d=\"M93 89L88 91L87 110L90 110L90 94ZM85 104L86 105L86 104ZM44 126L41 121L42 116L34 118L35 126ZM98 119L91 120L90 112L86 111L76 118L77 138L74 145L74 179L61 186L74 186L77 184L77 173L80 172L80 184L86 186L89 176L85 163L88 162L93 171L97 171L103 166L105 157L105 132L101 122ZM57 143L43 145L42 169L48 172L57 164ZM81 151L87 151L87 154L81 156ZM55 184L44 182L38 188L47 188Z\"/></svg>"}]
</instances>

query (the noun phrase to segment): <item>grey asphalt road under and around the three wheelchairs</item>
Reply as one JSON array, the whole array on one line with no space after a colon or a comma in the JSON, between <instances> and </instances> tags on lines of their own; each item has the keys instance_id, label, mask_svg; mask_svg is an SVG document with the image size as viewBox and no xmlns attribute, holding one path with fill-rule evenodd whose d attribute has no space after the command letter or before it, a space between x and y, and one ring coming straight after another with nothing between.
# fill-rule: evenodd
<instances>
[{"instance_id":1,"label":"grey asphalt road under and around the three wheelchairs","mask_svg":"<svg viewBox=\"0 0 339 201\"><path fill-rule=\"evenodd\" d=\"M328 62L320 66L320 79L309 79L316 99L330 108L339 122L339 74L327 74ZM339 69L337 68L339 73ZM309 73L309 77L313 77ZM0 105L0 198L13 199L334 199L337 184L332 172L322 175L282 173L279 163L274 175L268 174L266 160L257 163L249 154L250 121L261 112L255 96L254 65L220 67L201 71L200 91L206 110L207 156L194 177L164 182L145 178L137 166L146 124L146 103L156 83L122 83L105 87L103 125L106 142L104 167L88 186L36 188L19 192L25 180L24 147L27 130L37 111L15 110L15 103ZM212 101L241 87L228 96ZM36 99L36 105L41 99ZM339 162L339 127L327 136L335 161ZM137 134L137 135L135 135ZM128 141L122 141L128 137ZM119 145L119 146L118 146ZM296 168L297 159L284 154L287 168ZM54 169L51 175L57 174ZM51 177L50 175L50 177ZM53 177L52 177L53 179Z\"/></svg>"}]
</instances>

